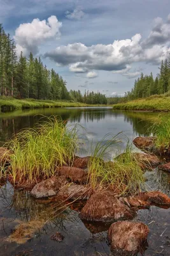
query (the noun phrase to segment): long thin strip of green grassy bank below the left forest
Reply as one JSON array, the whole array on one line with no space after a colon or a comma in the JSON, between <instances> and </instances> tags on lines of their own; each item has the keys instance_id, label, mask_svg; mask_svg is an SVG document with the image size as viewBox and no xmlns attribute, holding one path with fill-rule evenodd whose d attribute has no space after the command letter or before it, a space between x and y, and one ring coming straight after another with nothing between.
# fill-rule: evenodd
<instances>
[{"instance_id":1,"label":"long thin strip of green grassy bank below the left forest","mask_svg":"<svg viewBox=\"0 0 170 256\"><path fill-rule=\"evenodd\" d=\"M87 107L95 106L80 102L53 101L53 100L34 100L34 99L13 99L11 97L0 97L0 108L2 110L15 109L36 109L36 108L68 108L68 107ZM98 105L97 105L98 106Z\"/></svg>"}]
</instances>

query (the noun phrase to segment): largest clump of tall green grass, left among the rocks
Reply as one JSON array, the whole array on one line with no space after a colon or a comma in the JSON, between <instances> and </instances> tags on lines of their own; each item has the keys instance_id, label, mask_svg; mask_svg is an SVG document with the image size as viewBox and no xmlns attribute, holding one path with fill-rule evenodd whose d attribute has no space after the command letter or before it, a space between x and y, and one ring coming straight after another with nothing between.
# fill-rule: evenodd
<instances>
[{"instance_id":1,"label":"largest clump of tall green grass, left among the rocks","mask_svg":"<svg viewBox=\"0 0 170 256\"><path fill-rule=\"evenodd\" d=\"M78 147L76 126L66 127L52 116L33 129L24 129L6 143L12 154L10 172L13 182L51 177L57 166L67 165Z\"/></svg>"}]
</instances>

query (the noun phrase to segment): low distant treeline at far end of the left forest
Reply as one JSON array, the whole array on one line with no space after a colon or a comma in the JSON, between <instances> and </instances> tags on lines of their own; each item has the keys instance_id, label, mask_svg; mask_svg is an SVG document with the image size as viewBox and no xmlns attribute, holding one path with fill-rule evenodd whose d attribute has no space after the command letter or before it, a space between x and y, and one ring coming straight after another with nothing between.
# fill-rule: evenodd
<instances>
[{"instance_id":1,"label":"low distant treeline at far end of the left forest","mask_svg":"<svg viewBox=\"0 0 170 256\"><path fill-rule=\"evenodd\" d=\"M80 90L70 90L69 92L71 99L77 102L83 102L87 104L107 104L106 96L100 92L94 93L85 91L82 95Z\"/></svg>"}]
</instances>

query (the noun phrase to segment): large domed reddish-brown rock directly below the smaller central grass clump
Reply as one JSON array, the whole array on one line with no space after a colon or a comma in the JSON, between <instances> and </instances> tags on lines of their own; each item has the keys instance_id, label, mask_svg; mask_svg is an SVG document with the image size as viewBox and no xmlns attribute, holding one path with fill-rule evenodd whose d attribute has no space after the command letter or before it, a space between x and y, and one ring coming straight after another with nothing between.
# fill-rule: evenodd
<instances>
[{"instance_id":1,"label":"large domed reddish-brown rock directly below the smaller central grass clump","mask_svg":"<svg viewBox=\"0 0 170 256\"><path fill-rule=\"evenodd\" d=\"M96 193L90 197L80 212L80 218L88 221L115 221L133 218L135 212L116 197L106 193Z\"/></svg>"}]
</instances>

